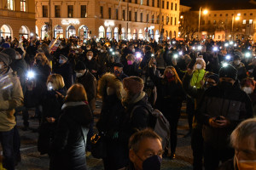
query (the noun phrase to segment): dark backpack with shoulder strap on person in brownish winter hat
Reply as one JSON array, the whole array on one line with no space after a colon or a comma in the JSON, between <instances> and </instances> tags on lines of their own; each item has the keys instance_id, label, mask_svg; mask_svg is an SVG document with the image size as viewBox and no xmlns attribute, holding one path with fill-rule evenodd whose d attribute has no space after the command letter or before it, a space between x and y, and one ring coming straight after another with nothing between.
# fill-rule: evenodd
<instances>
[{"instance_id":1,"label":"dark backpack with shoulder strap on person in brownish winter hat","mask_svg":"<svg viewBox=\"0 0 256 170\"><path fill-rule=\"evenodd\" d=\"M131 110L131 116L133 115L133 112L139 108L144 107L143 105L136 105ZM166 144L169 144L170 140L170 124L167 121L166 117L163 115L162 112L160 112L157 109L154 109L153 111L149 111L147 107L144 107L147 109L149 115L149 124L150 122L154 122L154 124L149 125L149 127L152 127L154 132L157 133L160 138L162 139L162 147L163 150L166 148ZM156 120L152 120L156 119Z\"/></svg>"}]
</instances>

